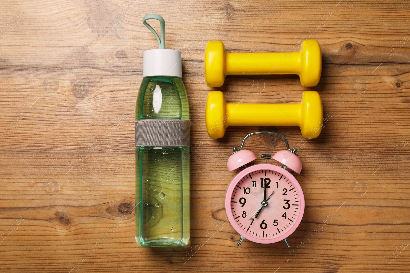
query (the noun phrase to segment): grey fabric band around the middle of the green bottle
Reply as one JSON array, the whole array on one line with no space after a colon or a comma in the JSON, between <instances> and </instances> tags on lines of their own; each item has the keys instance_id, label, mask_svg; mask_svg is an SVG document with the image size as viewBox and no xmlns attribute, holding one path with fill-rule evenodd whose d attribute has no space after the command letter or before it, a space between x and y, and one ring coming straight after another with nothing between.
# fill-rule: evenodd
<instances>
[{"instance_id":1,"label":"grey fabric band around the middle of the green bottle","mask_svg":"<svg viewBox=\"0 0 410 273\"><path fill-rule=\"evenodd\" d=\"M135 146L189 147L189 120L136 120Z\"/></svg>"}]
</instances>

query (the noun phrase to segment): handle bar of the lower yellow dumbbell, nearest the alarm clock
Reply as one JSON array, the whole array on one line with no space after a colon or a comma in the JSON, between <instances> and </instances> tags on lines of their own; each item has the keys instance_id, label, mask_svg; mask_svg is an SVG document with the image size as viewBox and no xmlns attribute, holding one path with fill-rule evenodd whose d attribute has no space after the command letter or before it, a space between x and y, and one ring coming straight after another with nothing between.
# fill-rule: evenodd
<instances>
[{"instance_id":1,"label":"handle bar of the lower yellow dumbbell, nearest the alarm clock","mask_svg":"<svg viewBox=\"0 0 410 273\"><path fill-rule=\"evenodd\" d=\"M227 103L226 126L300 126L301 106L301 103Z\"/></svg>"}]
</instances>

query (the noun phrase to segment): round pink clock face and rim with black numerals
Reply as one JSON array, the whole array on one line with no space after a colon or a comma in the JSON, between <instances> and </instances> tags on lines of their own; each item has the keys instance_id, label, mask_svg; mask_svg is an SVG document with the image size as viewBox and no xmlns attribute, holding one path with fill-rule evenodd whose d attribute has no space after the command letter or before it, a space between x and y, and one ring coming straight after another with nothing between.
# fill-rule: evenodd
<instances>
[{"instance_id":1,"label":"round pink clock face and rim with black numerals","mask_svg":"<svg viewBox=\"0 0 410 273\"><path fill-rule=\"evenodd\" d=\"M269 200L258 214L264 198ZM285 239L297 228L305 199L301 186L289 171L276 165L257 164L232 179L225 208L230 223L240 235L269 244Z\"/></svg>"}]
</instances>

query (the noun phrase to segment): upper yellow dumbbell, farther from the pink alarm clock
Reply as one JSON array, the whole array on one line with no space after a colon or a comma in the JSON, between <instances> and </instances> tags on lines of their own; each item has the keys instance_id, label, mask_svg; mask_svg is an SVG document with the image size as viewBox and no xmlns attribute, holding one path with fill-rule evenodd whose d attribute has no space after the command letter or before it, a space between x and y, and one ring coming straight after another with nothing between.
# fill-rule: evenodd
<instances>
[{"instance_id":1,"label":"upper yellow dumbbell, farther from the pink alarm clock","mask_svg":"<svg viewBox=\"0 0 410 273\"><path fill-rule=\"evenodd\" d=\"M303 86L316 86L322 72L322 55L316 40L305 40L299 52L229 53L221 41L205 49L207 86L223 85L226 75L298 74Z\"/></svg>"}]
</instances>

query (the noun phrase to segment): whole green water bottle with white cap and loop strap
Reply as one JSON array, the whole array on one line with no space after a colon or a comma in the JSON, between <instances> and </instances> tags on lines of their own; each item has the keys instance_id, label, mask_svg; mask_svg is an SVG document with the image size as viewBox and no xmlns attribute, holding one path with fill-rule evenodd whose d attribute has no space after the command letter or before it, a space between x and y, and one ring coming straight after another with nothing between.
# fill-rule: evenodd
<instances>
[{"instance_id":1,"label":"whole green water bottle with white cap and loop strap","mask_svg":"<svg viewBox=\"0 0 410 273\"><path fill-rule=\"evenodd\" d=\"M161 39L146 23L159 20ZM165 49L165 22L143 23L159 49L143 54L135 109L135 239L140 246L184 246L189 241L189 106L181 52Z\"/></svg>"}]
</instances>

